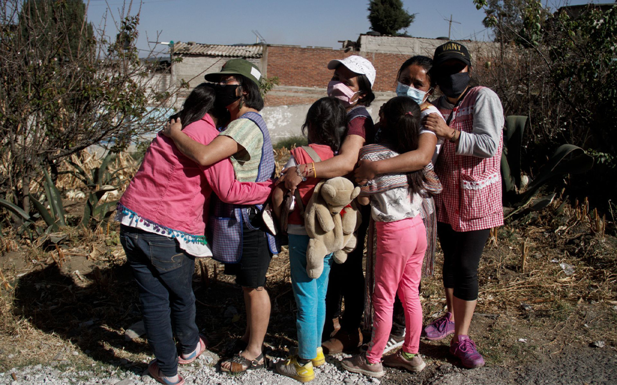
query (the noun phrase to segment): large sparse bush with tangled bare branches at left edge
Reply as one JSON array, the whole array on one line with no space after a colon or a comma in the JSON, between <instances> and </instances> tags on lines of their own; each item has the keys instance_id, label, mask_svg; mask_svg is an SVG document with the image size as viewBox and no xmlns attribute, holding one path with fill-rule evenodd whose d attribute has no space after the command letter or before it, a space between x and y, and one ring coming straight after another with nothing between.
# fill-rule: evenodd
<instances>
[{"instance_id":1,"label":"large sparse bush with tangled bare branches at left edge","mask_svg":"<svg viewBox=\"0 0 617 385\"><path fill-rule=\"evenodd\" d=\"M118 10L93 38L73 3L0 2L0 25L12 26L0 29L0 198L26 213L44 170L54 179L91 145L118 152L157 131L176 92L153 52L139 58L139 14Z\"/></svg>"}]
</instances>

